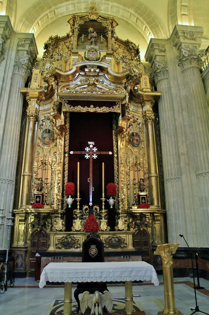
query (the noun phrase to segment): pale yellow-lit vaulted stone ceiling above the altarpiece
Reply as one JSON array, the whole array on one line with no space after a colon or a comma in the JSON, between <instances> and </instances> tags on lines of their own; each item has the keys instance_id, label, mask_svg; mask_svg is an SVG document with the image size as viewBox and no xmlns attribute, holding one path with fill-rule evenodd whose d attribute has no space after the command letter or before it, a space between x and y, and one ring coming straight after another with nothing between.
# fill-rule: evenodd
<instances>
[{"instance_id":1,"label":"pale yellow-lit vaulted stone ceiling above the altarpiece","mask_svg":"<svg viewBox=\"0 0 209 315\"><path fill-rule=\"evenodd\" d=\"M33 32L39 57L49 36L64 36L70 30L72 14L88 11L90 1L82 0L0 0L0 15L9 15L14 31ZM209 45L208 0L98 0L103 15L119 23L119 38L139 44L144 60L149 39L169 38L176 24L202 26L202 49Z\"/></svg>"}]
</instances>

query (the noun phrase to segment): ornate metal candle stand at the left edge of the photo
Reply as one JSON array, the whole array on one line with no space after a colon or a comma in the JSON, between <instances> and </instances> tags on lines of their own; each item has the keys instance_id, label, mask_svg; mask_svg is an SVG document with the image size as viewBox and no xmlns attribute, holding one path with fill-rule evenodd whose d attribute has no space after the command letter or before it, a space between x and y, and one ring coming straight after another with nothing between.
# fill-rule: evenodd
<instances>
[{"instance_id":1,"label":"ornate metal candle stand at the left edge of the photo","mask_svg":"<svg viewBox=\"0 0 209 315\"><path fill-rule=\"evenodd\" d=\"M0 209L0 229L4 225L3 219L5 218L5 215L3 215L3 210L4 209ZM6 254L6 259L5 259L5 261L3 261L3 264L2 264L1 269L0 269L0 294L3 294L5 291L7 291L8 279L10 281L10 283L9 283L10 287L13 287L14 284L15 284L15 278L13 276L12 270L10 269L10 266L9 266L9 269L7 270L9 246L10 246L10 237L11 237L11 227L14 224L14 223L12 223L12 220L15 219L15 218L12 217L11 214L12 213L9 212L9 216L7 217L7 226L8 226L8 230L7 230L7 246L6 246L7 254ZM3 273L4 273L4 281L3 281Z\"/></svg>"}]
</instances>

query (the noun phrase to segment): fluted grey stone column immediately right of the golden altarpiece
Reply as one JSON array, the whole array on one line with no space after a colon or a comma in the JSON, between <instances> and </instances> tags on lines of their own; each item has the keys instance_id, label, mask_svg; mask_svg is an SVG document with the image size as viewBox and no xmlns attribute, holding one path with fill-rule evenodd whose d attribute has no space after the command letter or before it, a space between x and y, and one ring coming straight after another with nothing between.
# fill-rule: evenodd
<instances>
[{"instance_id":1,"label":"fluted grey stone column immediately right of the golden altarpiece","mask_svg":"<svg viewBox=\"0 0 209 315\"><path fill-rule=\"evenodd\" d=\"M152 39L147 61L152 65L153 78L161 97L158 101L160 135L165 182L168 241L177 242L179 233L184 231L182 218L182 180L179 170L179 157L174 126L174 112L169 83L169 70L166 60L166 40Z\"/></svg>"}]
</instances>

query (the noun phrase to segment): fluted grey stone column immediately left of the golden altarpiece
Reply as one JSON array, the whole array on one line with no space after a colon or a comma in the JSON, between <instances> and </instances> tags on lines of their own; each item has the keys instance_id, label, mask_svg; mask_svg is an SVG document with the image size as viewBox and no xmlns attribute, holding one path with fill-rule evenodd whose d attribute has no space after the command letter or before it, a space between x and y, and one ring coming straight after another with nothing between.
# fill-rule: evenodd
<instances>
[{"instance_id":1,"label":"fluted grey stone column immediately left of the golden altarpiece","mask_svg":"<svg viewBox=\"0 0 209 315\"><path fill-rule=\"evenodd\" d=\"M25 86L26 80L31 73L31 62L35 57L35 48L33 46L33 34L15 34L13 38L13 48L15 49L13 64L13 75L10 85L10 93L7 103L3 103L5 112L5 121L3 125L3 136L1 143L0 159L0 198L4 192L5 215L12 207L14 195L15 175L17 166L17 156L20 137L20 123L22 115L23 96L20 88ZM12 54L10 54L10 57ZM9 67L9 60L8 65ZM6 70L5 70L6 71ZM6 225L0 231L0 249L6 248Z\"/></svg>"}]
</instances>

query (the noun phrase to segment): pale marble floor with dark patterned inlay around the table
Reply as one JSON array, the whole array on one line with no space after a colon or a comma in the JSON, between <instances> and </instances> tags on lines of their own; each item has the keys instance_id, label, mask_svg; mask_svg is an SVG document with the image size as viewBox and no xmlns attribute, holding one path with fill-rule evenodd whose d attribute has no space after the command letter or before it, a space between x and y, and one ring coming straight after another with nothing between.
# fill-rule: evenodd
<instances>
[{"instance_id":1,"label":"pale marble floor with dark patterned inlay around the table","mask_svg":"<svg viewBox=\"0 0 209 315\"><path fill-rule=\"evenodd\" d=\"M134 309L144 311L146 315L157 315L165 306L163 276L158 276L160 285L149 282L133 284ZM196 280L196 279L195 279ZM195 281L197 284L197 282ZM200 279L203 290L196 290L197 305L202 312L209 313L209 281ZM107 285L113 296L113 305L123 310L125 306L125 287L123 284ZM193 278L174 278L174 291L177 309L184 315L190 315L195 308ZM73 290L75 286L73 286ZM0 294L1 315L54 315L62 314L64 286L47 285L40 289L34 278L16 278L13 288ZM73 311L76 303L73 301ZM113 310L114 312L114 310Z\"/></svg>"}]
</instances>

